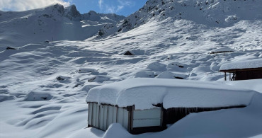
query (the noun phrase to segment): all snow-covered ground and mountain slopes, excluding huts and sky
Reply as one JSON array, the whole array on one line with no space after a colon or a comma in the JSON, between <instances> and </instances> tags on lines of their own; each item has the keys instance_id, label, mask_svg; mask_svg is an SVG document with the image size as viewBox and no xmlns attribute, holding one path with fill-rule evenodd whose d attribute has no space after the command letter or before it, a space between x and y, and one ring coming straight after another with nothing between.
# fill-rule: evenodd
<instances>
[{"instance_id":1,"label":"all snow-covered ground and mountain slopes, excluding huts and sky","mask_svg":"<svg viewBox=\"0 0 262 138\"><path fill-rule=\"evenodd\" d=\"M223 81L218 72L227 62L262 58L261 1L200 2L150 0L118 25L120 16L80 15L74 6L1 12L0 137L261 136L261 79ZM98 32L103 37L91 37ZM234 52L210 54L224 48ZM246 108L190 114L163 132L84 129L90 88L135 77L217 81L259 93Z\"/></svg>"}]
</instances>

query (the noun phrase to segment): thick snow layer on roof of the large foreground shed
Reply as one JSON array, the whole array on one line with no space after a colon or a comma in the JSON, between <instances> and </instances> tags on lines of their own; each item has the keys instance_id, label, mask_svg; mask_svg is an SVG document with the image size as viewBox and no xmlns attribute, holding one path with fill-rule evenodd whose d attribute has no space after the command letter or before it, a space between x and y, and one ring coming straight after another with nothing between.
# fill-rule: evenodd
<instances>
[{"instance_id":1,"label":"thick snow layer on roof of the large foreground shed","mask_svg":"<svg viewBox=\"0 0 262 138\"><path fill-rule=\"evenodd\" d=\"M91 88L86 102L108 103L135 109L154 108L212 108L248 105L253 92L215 82L176 79L126 79L113 84Z\"/></svg>"}]
</instances>

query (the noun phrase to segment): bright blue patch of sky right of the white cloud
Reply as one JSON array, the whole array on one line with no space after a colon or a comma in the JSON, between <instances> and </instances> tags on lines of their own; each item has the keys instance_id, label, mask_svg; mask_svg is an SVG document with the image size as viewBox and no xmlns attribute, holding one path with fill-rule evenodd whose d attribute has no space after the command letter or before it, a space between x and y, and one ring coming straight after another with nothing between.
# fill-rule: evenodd
<instances>
[{"instance_id":1,"label":"bright blue patch of sky right of the white cloud","mask_svg":"<svg viewBox=\"0 0 262 138\"><path fill-rule=\"evenodd\" d=\"M80 13L117 13L128 16L142 8L147 0L68 0L75 4Z\"/></svg>"}]
</instances>

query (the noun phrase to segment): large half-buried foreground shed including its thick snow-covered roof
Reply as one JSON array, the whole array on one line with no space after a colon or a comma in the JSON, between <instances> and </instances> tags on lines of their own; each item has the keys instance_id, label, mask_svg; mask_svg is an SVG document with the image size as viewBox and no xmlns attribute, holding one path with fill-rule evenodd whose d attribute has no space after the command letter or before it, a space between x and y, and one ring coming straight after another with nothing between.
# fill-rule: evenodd
<instances>
[{"instance_id":1,"label":"large half-buried foreground shed including its thick snow-covered roof","mask_svg":"<svg viewBox=\"0 0 262 138\"><path fill-rule=\"evenodd\" d=\"M88 126L106 131L118 122L132 134L157 132L190 113L244 108L253 94L215 82L127 79L91 88Z\"/></svg>"}]
</instances>

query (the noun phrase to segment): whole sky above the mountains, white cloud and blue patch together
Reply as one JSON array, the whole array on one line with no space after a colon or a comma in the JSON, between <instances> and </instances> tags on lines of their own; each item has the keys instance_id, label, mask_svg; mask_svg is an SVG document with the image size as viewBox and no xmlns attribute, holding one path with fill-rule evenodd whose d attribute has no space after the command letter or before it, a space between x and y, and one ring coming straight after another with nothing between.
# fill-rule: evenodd
<instances>
[{"instance_id":1,"label":"whole sky above the mountains, white cloud and blue patch together","mask_svg":"<svg viewBox=\"0 0 262 138\"><path fill-rule=\"evenodd\" d=\"M128 16L142 8L147 0L0 0L0 11L26 11L52 4L76 5L80 13L116 13Z\"/></svg>"}]
</instances>

